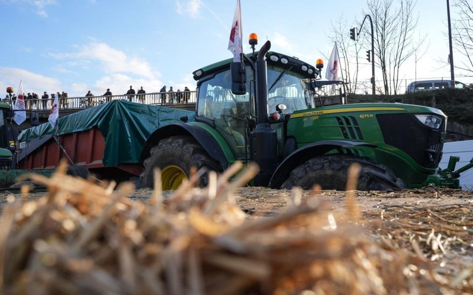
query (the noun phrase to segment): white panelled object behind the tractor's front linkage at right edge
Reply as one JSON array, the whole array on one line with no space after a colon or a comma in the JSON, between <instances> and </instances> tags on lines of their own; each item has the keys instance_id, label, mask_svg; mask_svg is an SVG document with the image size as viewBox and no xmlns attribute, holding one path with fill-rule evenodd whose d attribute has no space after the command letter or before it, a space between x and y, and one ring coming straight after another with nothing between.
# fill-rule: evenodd
<instances>
[{"instance_id":1,"label":"white panelled object behind the tractor's front linkage at right edge","mask_svg":"<svg viewBox=\"0 0 473 295\"><path fill-rule=\"evenodd\" d=\"M441 169L447 168L450 156L460 157L456 169L470 163L470 160L473 158L473 140L443 144L443 156L439 164ZM460 174L460 185L463 189L473 190L473 169Z\"/></svg>"}]
</instances>

